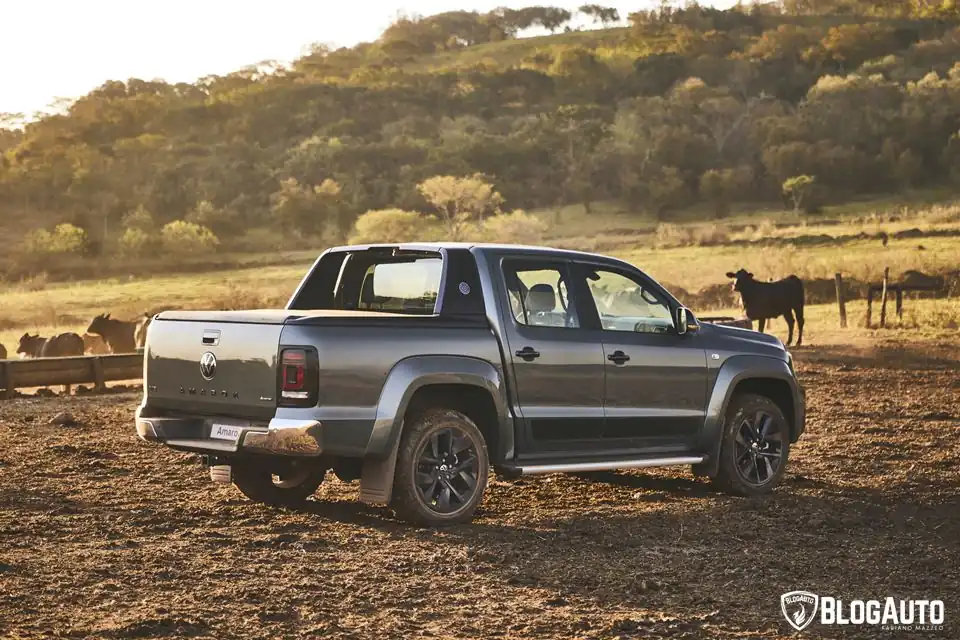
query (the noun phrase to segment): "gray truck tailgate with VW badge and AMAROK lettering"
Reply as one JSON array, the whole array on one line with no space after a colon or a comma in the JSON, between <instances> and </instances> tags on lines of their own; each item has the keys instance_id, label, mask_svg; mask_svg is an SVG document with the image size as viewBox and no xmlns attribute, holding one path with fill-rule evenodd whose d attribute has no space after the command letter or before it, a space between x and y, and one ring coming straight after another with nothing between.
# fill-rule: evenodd
<instances>
[{"instance_id":1,"label":"gray truck tailgate with VW badge and AMAROK lettering","mask_svg":"<svg viewBox=\"0 0 960 640\"><path fill-rule=\"evenodd\" d=\"M163 313L150 324L144 392L172 413L269 420L289 312Z\"/></svg>"}]
</instances>

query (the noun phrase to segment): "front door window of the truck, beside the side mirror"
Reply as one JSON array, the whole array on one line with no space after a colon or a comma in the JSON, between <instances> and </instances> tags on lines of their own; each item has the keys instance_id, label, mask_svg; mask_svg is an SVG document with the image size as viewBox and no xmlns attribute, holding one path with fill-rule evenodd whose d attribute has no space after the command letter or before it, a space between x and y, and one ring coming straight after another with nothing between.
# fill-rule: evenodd
<instances>
[{"instance_id":1,"label":"front door window of the truck, beside the side mirror","mask_svg":"<svg viewBox=\"0 0 960 640\"><path fill-rule=\"evenodd\" d=\"M632 278L594 269L588 272L587 286L606 331L668 333L673 329L667 301Z\"/></svg>"}]
</instances>

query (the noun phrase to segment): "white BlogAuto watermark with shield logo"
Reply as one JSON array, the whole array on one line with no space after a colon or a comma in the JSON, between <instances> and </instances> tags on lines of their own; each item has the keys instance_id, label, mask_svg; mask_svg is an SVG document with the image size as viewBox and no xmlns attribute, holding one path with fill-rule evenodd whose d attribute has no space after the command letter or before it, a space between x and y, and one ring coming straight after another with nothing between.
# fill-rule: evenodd
<instances>
[{"instance_id":1,"label":"white BlogAuto watermark with shield logo","mask_svg":"<svg viewBox=\"0 0 960 640\"><path fill-rule=\"evenodd\" d=\"M809 591L780 596L780 609L791 627L803 631L819 613L823 625L870 625L883 631L943 631L943 600L845 601Z\"/></svg>"}]
</instances>

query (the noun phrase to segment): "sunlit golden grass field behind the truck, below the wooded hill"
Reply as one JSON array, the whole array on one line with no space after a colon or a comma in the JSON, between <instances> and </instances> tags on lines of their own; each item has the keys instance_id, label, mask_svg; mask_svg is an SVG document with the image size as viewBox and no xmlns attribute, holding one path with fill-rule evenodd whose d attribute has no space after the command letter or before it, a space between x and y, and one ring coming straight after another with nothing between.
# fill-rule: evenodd
<instances>
[{"instance_id":1,"label":"sunlit golden grass field behind the truck, below the wooded hill","mask_svg":"<svg viewBox=\"0 0 960 640\"><path fill-rule=\"evenodd\" d=\"M930 194L920 194L917 201L928 197ZM541 211L535 215L552 221L555 214ZM624 214L610 206L600 206L589 216L582 207L569 207L560 216L562 224L548 227L544 244L617 256L668 287L682 287L690 292L725 283L724 274L740 267L760 279L791 273L804 279L832 278L834 273L841 272L847 278L872 282L880 280L885 267L890 267L894 279L908 269L925 273L960 269L960 206L955 203L927 208L915 205L913 209L889 201L853 203L807 218L788 212L780 212L774 218L770 211L758 209L718 222L701 220L673 225L669 233L658 231L653 220ZM918 229L926 235L892 237L906 229ZM875 237L880 232L891 235L886 246ZM857 237L861 233L870 237ZM242 266L199 274L129 275L72 283L37 279L10 284L0 288L0 344L8 351L14 350L25 331L42 335L82 332L93 316L103 312L133 319L160 307L282 306L322 250L323 247L317 247L315 251L282 256L231 254L230 261L223 266ZM278 259L282 259L282 266L277 265ZM856 314L862 315L863 304L851 302L852 321ZM709 313L739 315L736 310ZM885 330L884 335L956 330L958 316L957 299L909 300L903 326L894 322L894 328ZM875 320L878 317L879 311ZM836 310L832 305L811 305L808 318L807 335L811 341L837 333ZM777 327L783 330L785 338L783 322L774 323L774 330ZM851 327L844 335L862 331Z\"/></svg>"}]
</instances>

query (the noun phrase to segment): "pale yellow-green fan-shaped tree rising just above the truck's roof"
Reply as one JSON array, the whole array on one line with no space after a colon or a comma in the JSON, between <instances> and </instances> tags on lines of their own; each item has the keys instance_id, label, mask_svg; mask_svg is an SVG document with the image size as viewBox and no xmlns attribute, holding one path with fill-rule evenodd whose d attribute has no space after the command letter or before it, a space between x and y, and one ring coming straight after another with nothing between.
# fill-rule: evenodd
<instances>
[{"instance_id":1,"label":"pale yellow-green fan-shaped tree rising just above the truck's roof","mask_svg":"<svg viewBox=\"0 0 960 640\"><path fill-rule=\"evenodd\" d=\"M462 240L473 221L500 213L503 197L480 175L466 178L434 176L421 182L417 189L443 221L448 240Z\"/></svg>"}]
</instances>

